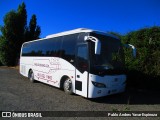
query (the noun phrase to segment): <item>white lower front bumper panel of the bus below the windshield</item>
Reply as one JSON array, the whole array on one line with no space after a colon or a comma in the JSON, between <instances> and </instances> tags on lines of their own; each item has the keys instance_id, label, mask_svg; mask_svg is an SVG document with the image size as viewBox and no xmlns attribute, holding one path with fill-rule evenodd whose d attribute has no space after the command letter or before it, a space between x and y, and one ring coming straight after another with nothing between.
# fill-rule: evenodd
<instances>
[{"instance_id":1,"label":"white lower front bumper panel of the bus below the windshield","mask_svg":"<svg viewBox=\"0 0 160 120\"><path fill-rule=\"evenodd\" d=\"M92 79L89 84L88 98L97 98L107 95L122 93L126 88L126 76L116 75L116 76L105 76L103 78L96 76L95 82L103 83L105 87L96 87L92 84Z\"/></svg>"}]
</instances>

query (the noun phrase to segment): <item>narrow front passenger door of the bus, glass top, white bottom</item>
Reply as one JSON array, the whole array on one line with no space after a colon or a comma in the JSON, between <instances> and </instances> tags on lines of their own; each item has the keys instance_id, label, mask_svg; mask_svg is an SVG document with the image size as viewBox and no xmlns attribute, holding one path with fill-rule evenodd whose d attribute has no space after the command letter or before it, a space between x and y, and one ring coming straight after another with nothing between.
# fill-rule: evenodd
<instances>
[{"instance_id":1,"label":"narrow front passenger door of the bus, glass top, white bottom","mask_svg":"<svg viewBox=\"0 0 160 120\"><path fill-rule=\"evenodd\" d=\"M76 54L75 93L87 97L88 93L88 47L79 44Z\"/></svg>"}]
</instances>

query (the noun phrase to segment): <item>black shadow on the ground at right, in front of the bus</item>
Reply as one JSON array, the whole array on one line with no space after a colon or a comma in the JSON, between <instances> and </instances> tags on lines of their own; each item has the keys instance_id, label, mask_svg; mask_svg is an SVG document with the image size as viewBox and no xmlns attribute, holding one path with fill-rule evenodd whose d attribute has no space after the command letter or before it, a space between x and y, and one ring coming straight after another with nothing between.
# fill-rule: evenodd
<instances>
[{"instance_id":1,"label":"black shadow on the ground at right, in front of the bus","mask_svg":"<svg viewBox=\"0 0 160 120\"><path fill-rule=\"evenodd\" d=\"M95 99L90 99L93 102L106 104L160 104L160 91L147 91L138 89L127 89L124 93L115 94Z\"/></svg>"}]
</instances>

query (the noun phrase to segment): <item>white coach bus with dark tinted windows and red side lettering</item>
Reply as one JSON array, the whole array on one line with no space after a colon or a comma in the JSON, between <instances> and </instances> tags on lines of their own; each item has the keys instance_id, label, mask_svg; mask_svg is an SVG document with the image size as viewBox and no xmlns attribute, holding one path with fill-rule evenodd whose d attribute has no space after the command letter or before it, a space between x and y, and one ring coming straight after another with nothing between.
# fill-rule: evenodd
<instances>
[{"instance_id":1,"label":"white coach bus with dark tinted windows and red side lettering","mask_svg":"<svg viewBox=\"0 0 160 120\"><path fill-rule=\"evenodd\" d=\"M121 41L84 28L25 42L20 74L86 98L121 93L126 86Z\"/></svg>"}]
</instances>

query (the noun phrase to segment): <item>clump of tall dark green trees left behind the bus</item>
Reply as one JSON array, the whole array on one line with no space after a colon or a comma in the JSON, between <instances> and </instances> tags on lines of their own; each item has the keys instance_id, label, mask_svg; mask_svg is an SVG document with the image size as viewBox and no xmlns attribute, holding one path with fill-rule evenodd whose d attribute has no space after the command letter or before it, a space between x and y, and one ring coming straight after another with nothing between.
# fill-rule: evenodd
<instances>
[{"instance_id":1,"label":"clump of tall dark green trees left behind the bus","mask_svg":"<svg viewBox=\"0 0 160 120\"><path fill-rule=\"evenodd\" d=\"M0 61L3 65L14 66L17 64L21 45L23 42L39 38L41 33L37 25L36 15L27 26L26 5L23 2L17 11L10 11L4 16L4 26L0 27ZM29 37L28 37L29 36Z\"/></svg>"}]
</instances>

